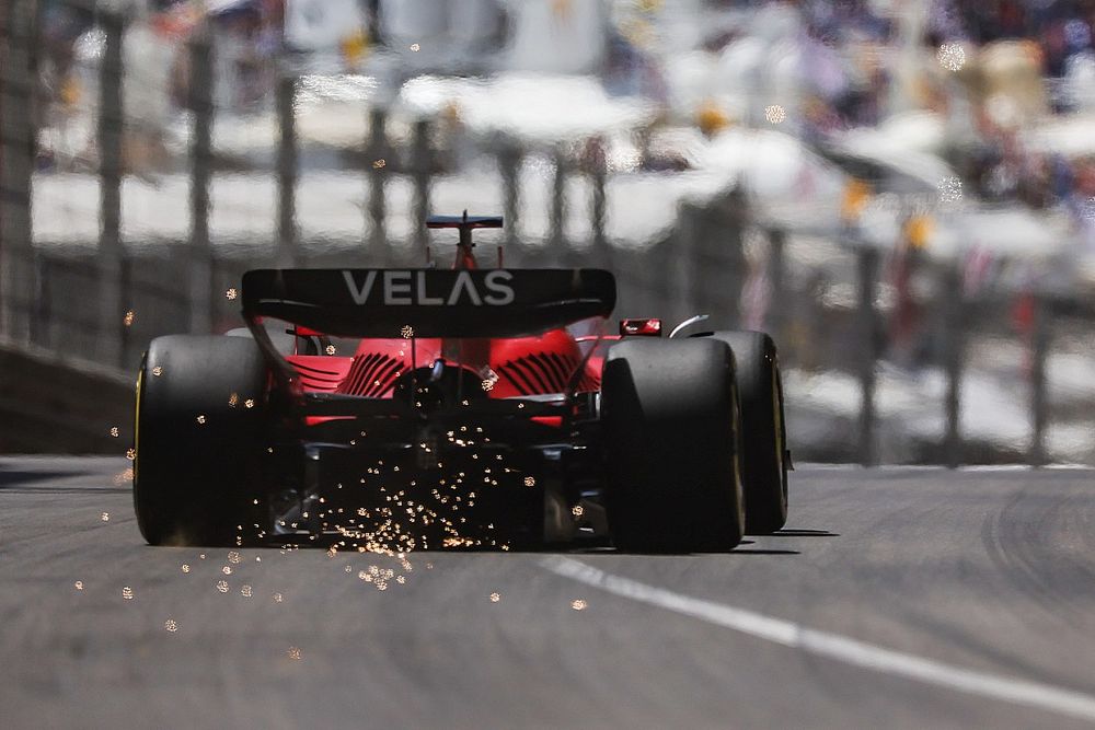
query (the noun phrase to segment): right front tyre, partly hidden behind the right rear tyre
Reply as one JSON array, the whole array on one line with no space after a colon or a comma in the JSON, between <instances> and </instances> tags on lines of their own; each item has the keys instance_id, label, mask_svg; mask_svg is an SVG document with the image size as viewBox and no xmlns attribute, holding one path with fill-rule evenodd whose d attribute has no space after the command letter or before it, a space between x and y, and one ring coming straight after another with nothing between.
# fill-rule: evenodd
<instances>
[{"instance_id":1,"label":"right front tyre, partly hidden behind the right rear tyre","mask_svg":"<svg viewBox=\"0 0 1095 730\"><path fill-rule=\"evenodd\" d=\"M710 337L730 346L737 366L746 534L769 534L787 522L786 426L775 343L762 332Z\"/></svg>"}]
</instances>

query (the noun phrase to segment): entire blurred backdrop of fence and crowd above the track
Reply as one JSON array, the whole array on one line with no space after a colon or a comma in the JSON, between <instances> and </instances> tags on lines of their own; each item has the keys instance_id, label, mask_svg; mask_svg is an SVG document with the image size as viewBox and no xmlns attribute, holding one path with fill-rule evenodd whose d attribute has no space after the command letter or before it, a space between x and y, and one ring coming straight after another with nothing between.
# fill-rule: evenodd
<instances>
[{"instance_id":1,"label":"entire blurred backdrop of fence and crowd above the track","mask_svg":"<svg viewBox=\"0 0 1095 730\"><path fill-rule=\"evenodd\" d=\"M1095 1L0 14L0 452L117 450L242 271L422 265L468 209L620 316L771 332L797 460L1095 463Z\"/></svg>"}]
</instances>

